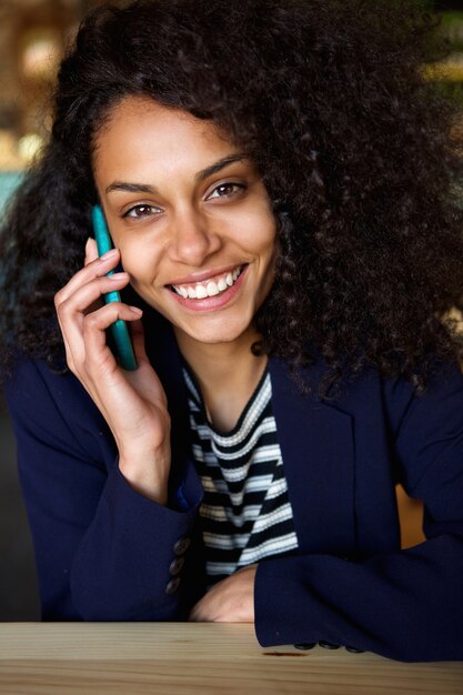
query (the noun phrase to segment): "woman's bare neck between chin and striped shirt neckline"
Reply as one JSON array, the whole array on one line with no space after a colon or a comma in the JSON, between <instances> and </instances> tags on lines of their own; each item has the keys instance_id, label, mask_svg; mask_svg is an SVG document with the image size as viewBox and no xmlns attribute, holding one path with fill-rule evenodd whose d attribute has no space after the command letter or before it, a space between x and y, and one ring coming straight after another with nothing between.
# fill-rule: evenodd
<instances>
[{"instance_id":1,"label":"woman's bare neck between chin and striped shirt neckline","mask_svg":"<svg viewBox=\"0 0 463 695\"><path fill-rule=\"evenodd\" d=\"M223 432L232 430L266 365L265 355L251 352L259 334L250 329L230 343L199 343L174 331L180 352L201 387L210 421Z\"/></svg>"}]
</instances>

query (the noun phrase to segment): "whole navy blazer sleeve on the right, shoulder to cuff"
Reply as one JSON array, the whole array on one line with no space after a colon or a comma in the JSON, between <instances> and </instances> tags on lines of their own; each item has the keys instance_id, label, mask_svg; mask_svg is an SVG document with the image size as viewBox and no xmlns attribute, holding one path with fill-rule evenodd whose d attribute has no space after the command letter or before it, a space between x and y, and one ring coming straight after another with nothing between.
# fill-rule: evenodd
<instances>
[{"instance_id":1,"label":"whole navy blazer sleeve on the right, shoulder to cuff","mask_svg":"<svg viewBox=\"0 0 463 695\"><path fill-rule=\"evenodd\" d=\"M463 659L463 376L449 369L421 397L397 380L385 399L403 484L424 502L426 542L363 562L262 562L262 645L323 639L401 661Z\"/></svg>"}]
</instances>

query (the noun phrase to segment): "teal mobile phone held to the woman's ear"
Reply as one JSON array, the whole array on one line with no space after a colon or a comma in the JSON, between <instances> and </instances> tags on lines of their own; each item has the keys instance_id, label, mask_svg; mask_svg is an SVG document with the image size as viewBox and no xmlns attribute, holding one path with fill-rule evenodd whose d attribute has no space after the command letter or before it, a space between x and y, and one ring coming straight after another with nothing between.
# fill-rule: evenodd
<instances>
[{"instance_id":1,"label":"teal mobile phone held to the woman's ear","mask_svg":"<svg viewBox=\"0 0 463 695\"><path fill-rule=\"evenodd\" d=\"M103 253L112 249L112 241L100 205L92 208L92 224L93 234L97 240L98 255L103 255ZM111 270L108 275L112 275L113 272L114 271ZM107 294L104 294L104 301L107 304L110 302L120 302L121 295L117 291L107 292ZM110 328L115 346L115 356L120 365L122 369L133 372L138 367L138 364L125 321L118 319Z\"/></svg>"}]
</instances>

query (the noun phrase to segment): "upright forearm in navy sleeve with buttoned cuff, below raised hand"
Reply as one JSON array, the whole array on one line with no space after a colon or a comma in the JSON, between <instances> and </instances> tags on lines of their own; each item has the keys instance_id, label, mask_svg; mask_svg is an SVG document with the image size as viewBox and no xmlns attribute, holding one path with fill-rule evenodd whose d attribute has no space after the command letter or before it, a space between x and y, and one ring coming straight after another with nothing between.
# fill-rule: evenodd
<instances>
[{"instance_id":1,"label":"upright forearm in navy sleeve with buttoned cuff, below raised hand","mask_svg":"<svg viewBox=\"0 0 463 695\"><path fill-rule=\"evenodd\" d=\"M133 490L119 470L110 474L97 514L77 551L71 594L83 620L174 620L182 574L200 502L187 511L158 504ZM182 552L181 552L182 551ZM172 563L184 565L172 575Z\"/></svg>"}]
</instances>

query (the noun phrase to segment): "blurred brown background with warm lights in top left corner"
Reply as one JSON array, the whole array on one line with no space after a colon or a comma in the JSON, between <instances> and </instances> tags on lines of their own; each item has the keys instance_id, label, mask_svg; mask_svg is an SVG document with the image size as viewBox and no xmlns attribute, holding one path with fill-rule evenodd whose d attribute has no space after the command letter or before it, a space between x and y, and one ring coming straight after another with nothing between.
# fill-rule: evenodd
<instances>
[{"instance_id":1,"label":"blurred brown background with warm lights in top left corner","mask_svg":"<svg viewBox=\"0 0 463 695\"><path fill-rule=\"evenodd\" d=\"M79 21L103 0L0 0L0 172L40 155L51 124L60 60ZM0 179L0 203L8 181Z\"/></svg>"}]
</instances>

